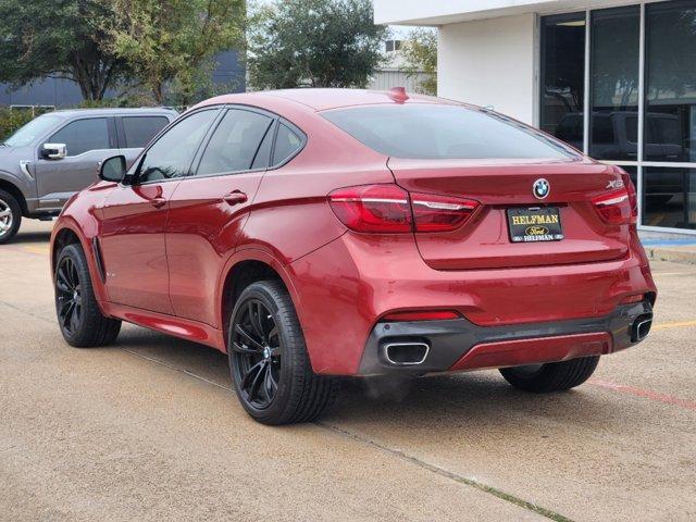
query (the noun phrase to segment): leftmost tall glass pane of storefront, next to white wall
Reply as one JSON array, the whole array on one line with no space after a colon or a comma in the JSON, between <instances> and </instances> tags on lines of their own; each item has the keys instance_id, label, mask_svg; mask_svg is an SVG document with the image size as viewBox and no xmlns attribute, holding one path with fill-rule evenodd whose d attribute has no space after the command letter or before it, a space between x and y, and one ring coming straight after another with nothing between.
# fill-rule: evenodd
<instances>
[{"instance_id":1,"label":"leftmost tall glass pane of storefront, next to white wall","mask_svg":"<svg viewBox=\"0 0 696 522\"><path fill-rule=\"evenodd\" d=\"M583 149L585 13L542 21L543 130Z\"/></svg>"}]
</instances>

